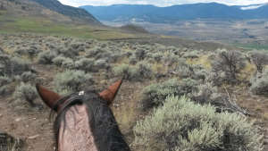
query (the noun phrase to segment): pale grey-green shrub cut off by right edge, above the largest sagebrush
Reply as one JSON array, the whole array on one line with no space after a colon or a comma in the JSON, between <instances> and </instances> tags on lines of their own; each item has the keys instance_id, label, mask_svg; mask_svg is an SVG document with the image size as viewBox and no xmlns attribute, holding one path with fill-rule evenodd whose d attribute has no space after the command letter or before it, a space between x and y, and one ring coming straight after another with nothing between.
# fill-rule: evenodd
<instances>
[{"instance_id":1,"label":"pale grey-green shrub cut off by right edge, above the largest sagebrush","mask_svg":"<svg viewBox=\"0 0 268 151\"><path fill-rule=\"evenodd\" d=\"M268 70L252 78L250 91L255 95L268 96Z\"/></svg>"}]
</instances>

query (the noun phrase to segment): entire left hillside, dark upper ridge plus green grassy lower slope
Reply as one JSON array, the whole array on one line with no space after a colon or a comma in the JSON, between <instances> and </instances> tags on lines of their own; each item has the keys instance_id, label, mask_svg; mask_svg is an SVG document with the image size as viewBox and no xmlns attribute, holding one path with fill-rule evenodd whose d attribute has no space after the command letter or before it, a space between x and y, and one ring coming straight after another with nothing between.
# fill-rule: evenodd
<instances>
[{"instance_id":1,"label":"entire left hillside, dark upper ridge plus green grassy lower slope","mask_svg":"<svg viewBox=\"0 0 268 151\"><path fill-rule=\"evenodd\" d=\"M0 33L25 32L97 39L143 37L106 27L86 11L56 0L1 0Z\"/></svg>"}]
</instances>

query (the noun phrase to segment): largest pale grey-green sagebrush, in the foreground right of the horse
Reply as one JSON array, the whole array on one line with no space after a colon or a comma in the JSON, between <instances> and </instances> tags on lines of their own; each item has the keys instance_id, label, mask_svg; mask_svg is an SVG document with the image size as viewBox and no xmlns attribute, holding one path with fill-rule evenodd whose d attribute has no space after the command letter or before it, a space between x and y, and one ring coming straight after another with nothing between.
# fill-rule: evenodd
<instances>
[{"instance_id":1,"label":"largest pale grey-green sagebrush, in the foreground right of the horse","mask_svg":"<svg viewBox=\"0 0 268 151\"><path fill-rule=\"evenodd\" d=\"M187 97L168 96L163 106L137 122L133 145L143 150L263 150L263 135L237 113L215 113Z\"/></svg>"}]
</instances>

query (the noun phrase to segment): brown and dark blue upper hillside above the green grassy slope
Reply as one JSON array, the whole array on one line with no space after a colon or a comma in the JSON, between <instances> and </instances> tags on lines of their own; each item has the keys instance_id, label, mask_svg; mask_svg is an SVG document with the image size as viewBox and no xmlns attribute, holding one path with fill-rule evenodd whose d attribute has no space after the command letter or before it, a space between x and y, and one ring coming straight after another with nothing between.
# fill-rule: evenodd
<instances>
[{"instance_id":1,"label":"brown and dark blue upper hillside above the green grassy slope","mask_svg":"<svg viewBox=\"0 0 268 151\"><path fill-rule=\"evenodd\" d=\"M90 13L63 5L57 0L2 0L0 5L1 17L8 16L10 20L38 17L62 23L75 21L80 24L100 24Z\"/></svg>"}]
</instances>

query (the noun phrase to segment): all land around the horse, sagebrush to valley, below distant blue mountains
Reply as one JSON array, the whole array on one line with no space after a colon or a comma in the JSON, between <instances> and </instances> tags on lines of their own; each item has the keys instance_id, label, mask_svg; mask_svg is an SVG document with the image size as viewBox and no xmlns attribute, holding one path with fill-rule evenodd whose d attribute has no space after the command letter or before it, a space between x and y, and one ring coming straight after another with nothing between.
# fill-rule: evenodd
<instances>
[{"instance_id":1,"label":"all land around the horse, sagebrush to valley, below distant blue mountains","mask_svg":"<svg viewBox=\"0 0 268 151\"><path fill-rule=\"evenodd\" d=\"M0 150L55 149L37 83L65 96L122 77L111 107L131 150L268 150L266 20L140 25L105 26L56 0L1 1Z\"/></svg>"}]
</instances>

